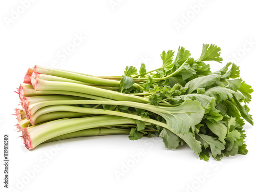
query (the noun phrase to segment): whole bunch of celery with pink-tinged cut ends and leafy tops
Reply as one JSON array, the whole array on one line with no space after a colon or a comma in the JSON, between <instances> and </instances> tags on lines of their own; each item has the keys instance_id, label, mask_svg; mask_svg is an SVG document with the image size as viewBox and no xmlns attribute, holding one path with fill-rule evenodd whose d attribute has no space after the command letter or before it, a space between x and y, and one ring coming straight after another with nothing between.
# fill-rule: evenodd
<instances>
[{"instance_id":1,"label":"whole bunch of celery with pink-tinged cut ends and leafy tops","mask_svg":"<svg viewBox=\"0 0 256 192\"><path fill-rule=\"evenodd\" d=\"M199 59L183 47L163 51L160 68L126 67L122 76L92 75L35 66L18 88L22 110L17 129L28 150L45 142L82 136L153 135L169 149L187 144L200 159L247 153L244 120L251 86L239 67L211 72L204 61L221 62L220 48L203 45Z\"/></svg>"}]
</instances>

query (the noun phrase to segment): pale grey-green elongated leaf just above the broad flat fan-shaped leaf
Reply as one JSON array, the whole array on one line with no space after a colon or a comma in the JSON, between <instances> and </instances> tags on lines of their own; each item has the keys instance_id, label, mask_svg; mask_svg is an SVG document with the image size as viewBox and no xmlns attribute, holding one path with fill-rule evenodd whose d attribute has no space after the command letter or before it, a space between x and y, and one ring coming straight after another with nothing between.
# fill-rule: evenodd
<instances>
[{"instance_id":1,"label":"pale grey-green elongated leaf just above the broad flat fan-shaped leaf","mask_svg":"<svg viewBox=\"0 0 256 192\"><path fill-rule=\"evenodd\" d=\"M218 81L220 77L220 75L207 75L190 80L185 84L185 88L187 88L186 93L190 94L198 88L205 88L207 86L211 86L216 81Z\"/></svg>"}]
</instances>

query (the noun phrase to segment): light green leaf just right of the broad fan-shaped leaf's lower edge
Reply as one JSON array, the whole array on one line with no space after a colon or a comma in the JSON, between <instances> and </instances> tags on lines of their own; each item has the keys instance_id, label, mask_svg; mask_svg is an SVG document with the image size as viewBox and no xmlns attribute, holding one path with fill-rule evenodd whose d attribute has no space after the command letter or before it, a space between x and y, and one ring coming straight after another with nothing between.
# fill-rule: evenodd
<instances>
[{"instance_id":1,"label":"light green leaf just right of the broad fan-shaped leaf's lower edge","mask_svg":"<svg viewBox=\"0 0 256 192\"><path fill-rule=\"evenodd\" d=\"M205 120L205 123L208 126L209 130L217 135L221 142L225 143L224 139L227 135L227 127L221 121L212 123L208 120Z\"/></svg>"}]
</instances>

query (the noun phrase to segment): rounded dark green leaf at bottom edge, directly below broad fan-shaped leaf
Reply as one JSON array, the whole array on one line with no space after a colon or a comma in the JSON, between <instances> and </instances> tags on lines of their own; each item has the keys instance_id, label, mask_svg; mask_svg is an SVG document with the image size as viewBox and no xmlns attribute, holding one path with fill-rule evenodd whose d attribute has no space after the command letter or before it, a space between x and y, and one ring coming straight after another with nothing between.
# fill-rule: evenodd
<instances>
[{"instance_id":1,"label":"rounded dark green leaf at bottom edge, directly below broad fan-shaped leaf","mask_svg":"<svg viewBox=\"0 0 256 192\"><path fill-rule=\"evenodd\" d=\"M163 138L163 142L166 148L172 150L179 146L180 138L167 129L163 129L159 135Z\"/></svg>"}]
</instances>

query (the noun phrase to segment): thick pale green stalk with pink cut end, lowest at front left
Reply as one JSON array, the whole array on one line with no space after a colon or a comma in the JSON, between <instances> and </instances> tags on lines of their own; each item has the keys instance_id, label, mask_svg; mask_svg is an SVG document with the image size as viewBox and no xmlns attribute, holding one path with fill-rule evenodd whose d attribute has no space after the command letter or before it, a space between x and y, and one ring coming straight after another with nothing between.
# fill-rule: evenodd
<instances>
[{"instance_id":1,"label":"thick pale green stalk with pink cut end, lowest at front left","mask_svg":"<svg viewBox=\"0 0 256 192\"><path fill-rule=\"evenodd\" d=\"M31 150L40 143L60 135L94 127L118 124L135 124L135 122L130 118L104 115L74 119L59 119L42 123L40 125L27 127L22 131L25 146L28 148L28 150Z\"/></svg>"}]
</instances>

